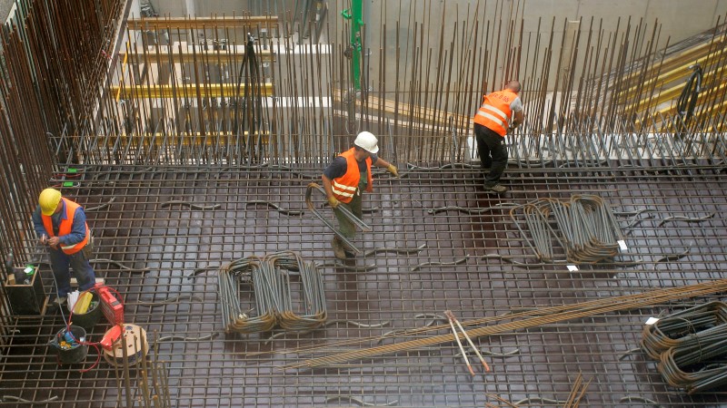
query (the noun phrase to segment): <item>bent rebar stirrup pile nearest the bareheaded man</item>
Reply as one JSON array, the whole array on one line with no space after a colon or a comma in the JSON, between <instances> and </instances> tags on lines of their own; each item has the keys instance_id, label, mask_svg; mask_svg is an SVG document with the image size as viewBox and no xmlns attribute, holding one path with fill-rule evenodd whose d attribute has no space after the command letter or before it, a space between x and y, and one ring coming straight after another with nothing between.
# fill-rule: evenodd
<instances>
[{"instance_id":1,"label":"bent rebar stirrup pile nearest the bareheaded man","mask_svg":"<svg viewBox=\"0 0 727 408\"><path fill-rule=\"evenodd\" d=\"M532 241L520 227L520 211ZM565 252L564 260L573 264L611 260L623 239L611 207L594 195L574 195L568 201L537 199L511 209L510 217L543 262L555 261L555 243Z\"/></svg>"}]
</instances>

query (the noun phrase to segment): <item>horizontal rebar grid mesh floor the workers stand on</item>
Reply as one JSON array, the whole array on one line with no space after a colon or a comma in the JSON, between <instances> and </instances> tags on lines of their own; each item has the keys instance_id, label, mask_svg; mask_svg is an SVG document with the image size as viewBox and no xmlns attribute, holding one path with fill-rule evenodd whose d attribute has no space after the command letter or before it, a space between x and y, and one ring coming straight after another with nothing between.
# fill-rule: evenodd
<instances>
[{"instance_id":1,"label":"horizontal rebar grid mesh floor the workers stand on","mask_svg":"<svg viewBox=\"0 0 727 408\"><path fill-rule=\"evenodd\" d=\"M623 406L640 403L638 398L661 406L727 403L720 391L688 396L669 387L652 361L632 351L647 317L719 294L476 338L495 355L485 353L493 372L475 377L454 343L281 370L315 355L446 334L378 341L387 332L446 323L434 316L446 309L465 323L721 278L727 267L722 167L512 169L506 173L511 192L502 197L483 192L478 169L412 169L402 179L377 173L374 192L364 196L364 221L373 232L359 234L364 255L345 263L333 256L333 233L305 210L305 186L319 172L87 168L78 187L63 189L90 209L97 275L124 296L128 321L143 326L150 342L154 334L161 337L156 357L169 363L177 406L506 406L492 395L510 403L530 398L520 406L558 406L538 398L565 400L579 372L593 379L583 406ZM617 214L628 250L614 264L583 265L578 272L541 264L513 226L511 205L573 194L598 195ZM287 215L260 200L303 214ZM372 254L377 248L421 249ZM323 272L329 325L311 333L225 335L216 268L287 249ZM50 292L47 267L41 273ZM1 393L57 397L48 406L113 406L121 376L114 367L102 360L79 374L80 365L58 366L48 353L45 342L62 325L58 315L17 320L13 329L19 332L0 372ZM92 339L107 328L97 325ZM310 349L323 345L333 346ZM86 366L94 358L92 349Z\"/></svg>"}]
</instances>

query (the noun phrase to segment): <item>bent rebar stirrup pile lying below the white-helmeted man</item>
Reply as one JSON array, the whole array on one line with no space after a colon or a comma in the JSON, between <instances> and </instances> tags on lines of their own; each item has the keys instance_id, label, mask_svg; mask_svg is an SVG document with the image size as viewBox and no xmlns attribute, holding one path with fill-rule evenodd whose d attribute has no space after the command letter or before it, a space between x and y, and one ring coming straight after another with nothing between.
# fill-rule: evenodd
<instances>
[{"instance_id":1,"label":"bent rebar stirrup pile lying below the white-helmeted man","mask_svg":"<svg viewBox=\"0 0 727 408\"><path fill-rule=\"evenodd\" d=\"M291 272L301 278L301 310L294 310ZM256 316L243 310L240 287L252 278ZM265 257L245 257L222 267L218 289L225 331L252 334L267 332L276 325L285 330L304 331L323 325L327 318L323 275L313 263L293 251Z\"/></svg>"}]
</instances>

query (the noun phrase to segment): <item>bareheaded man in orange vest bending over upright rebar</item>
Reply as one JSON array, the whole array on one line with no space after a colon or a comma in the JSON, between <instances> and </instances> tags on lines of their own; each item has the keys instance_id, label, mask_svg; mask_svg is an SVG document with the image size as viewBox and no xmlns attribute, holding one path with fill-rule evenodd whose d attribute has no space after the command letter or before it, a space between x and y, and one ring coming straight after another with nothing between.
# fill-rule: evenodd
<instances>
[{"instance_id":1,"label":"bareheaded man in orange vest bending over upright rebar","mask_svg":"<svg viewBox=\"0 0 727 408\"><path fill-rule=\"evenodd\" d=\"M482 169L490 170L484 178L484 189L496 193L507 191L500 178L507 166L507 148L504 144L509 129L525 120L523 101L520 100L520 83L511 81L502 91L484 96L483 104L474 115L474 135Z\"/></svg>"}]
</instances>

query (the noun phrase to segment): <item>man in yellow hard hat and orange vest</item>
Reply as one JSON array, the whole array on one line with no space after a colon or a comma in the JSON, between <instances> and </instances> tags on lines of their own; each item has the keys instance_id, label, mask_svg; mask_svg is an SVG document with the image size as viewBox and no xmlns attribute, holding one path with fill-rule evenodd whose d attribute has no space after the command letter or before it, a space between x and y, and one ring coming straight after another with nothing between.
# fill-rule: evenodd
<instances>
[{"instance_id":1,"label":"man in yellow hard hat and orange vest","mask_svg":"<svg viewBox=\"0 0 727 408\"><path fill-rule=\"evenodd\" d=\"M47 246L57 289L55 304L65 304L71 292L69 267L81 291L95 285L94 268L88 262L91 232L85 222L83 207L64 199L57 189L44 189L33 212L35 232Z\"/></svg>"}]
</instances>

